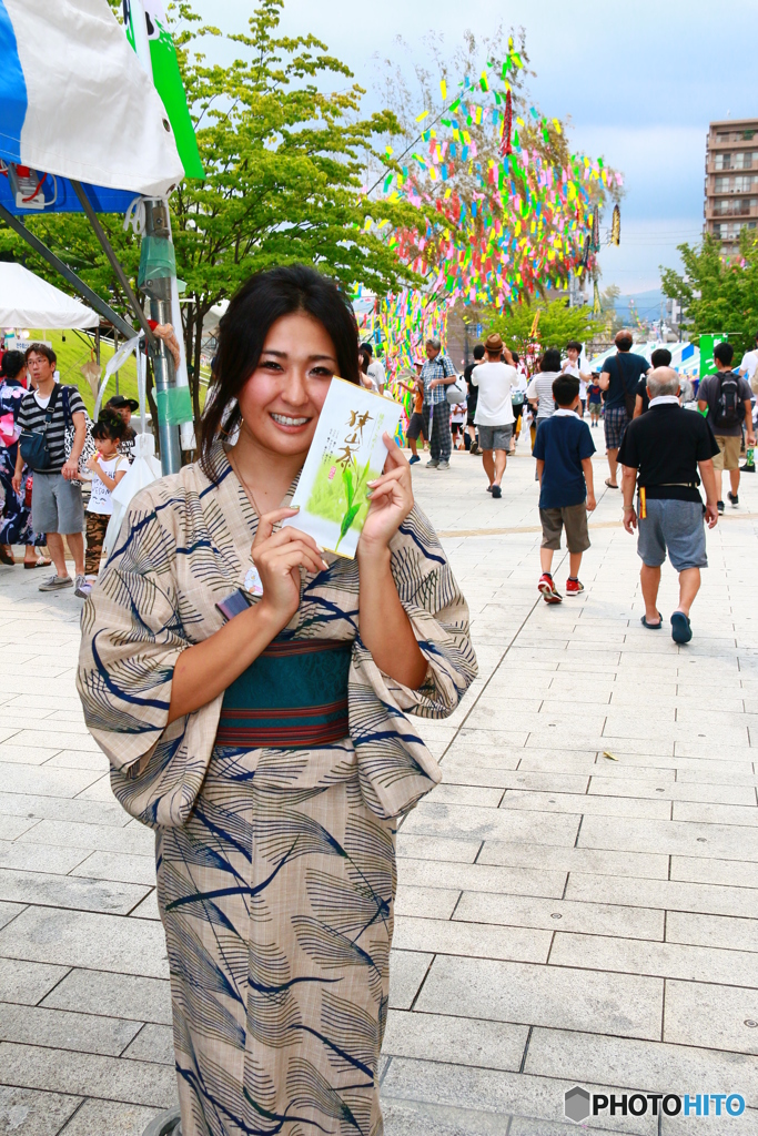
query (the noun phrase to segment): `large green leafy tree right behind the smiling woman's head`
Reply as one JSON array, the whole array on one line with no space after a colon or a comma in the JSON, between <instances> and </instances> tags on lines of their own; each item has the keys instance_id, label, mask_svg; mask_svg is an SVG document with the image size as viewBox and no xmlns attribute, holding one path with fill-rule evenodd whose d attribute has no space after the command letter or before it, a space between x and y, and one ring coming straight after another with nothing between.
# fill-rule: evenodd
<instances>
[{"instance_id":1,"label":"large green leafy tree right behind the smiling woman's head","mask_svg":"<svg viewBox=\"0 0 758 1136\"><path fill-rule=\"evenodd\" d=\"M284 0L259 0L247 33L232 35L240 56L228 66L208 62L199 50L220 33L202 26L189 3L174 11L174 39L195 123L205 179L184 181L170 198L176 268L185 282L183 318L195 420L200 416L202 323L210 308L250 274L273 265L314 265L350 289L355 282L384 293L419 282L367 220L375 207L361 197L366 156L376 140L399 131L390 111L360 118L363 91L320 89L325 77L351 78L348 67L311 35L277 34ZM406 202L381 203L392 225L418 220ZM139 241L103 218L132 278ZM86 219L80 215L35 217L39 236L108 299L126 310ZM0 254L11 253L35 272L60 281L20 239L0 228Z\"/></svg>"}]
</instances>

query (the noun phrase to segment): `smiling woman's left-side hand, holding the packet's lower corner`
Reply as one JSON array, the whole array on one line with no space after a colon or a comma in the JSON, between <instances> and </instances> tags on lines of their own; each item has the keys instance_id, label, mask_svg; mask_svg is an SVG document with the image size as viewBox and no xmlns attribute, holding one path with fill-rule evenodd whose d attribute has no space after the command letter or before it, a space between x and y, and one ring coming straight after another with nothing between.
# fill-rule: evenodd
<instances>
[{"instance_id":1,"label":"smiling woman's left-side hand, holding the packet's lower corner","mask_svg":"<svg viewBox=\"0 0 758 1136\"><path fill-rule=\"evenodd\" d=\"M289 526L274 532L277 521L297 512L297 509L275 509L264 513L252 542L251 556L264 588L259 608L274 617L280 630L286 627L300 603L300 568L309 573L328 568L313 536Z\"/></svg>"}]
</instances>

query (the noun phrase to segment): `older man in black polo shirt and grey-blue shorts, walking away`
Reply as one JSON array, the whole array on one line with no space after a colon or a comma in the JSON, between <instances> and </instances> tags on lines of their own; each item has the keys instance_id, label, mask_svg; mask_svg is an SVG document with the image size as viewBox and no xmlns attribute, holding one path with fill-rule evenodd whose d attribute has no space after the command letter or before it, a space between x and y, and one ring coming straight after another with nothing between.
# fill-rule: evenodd
<instances>
[{"instance_id":1,"label":"older man in black polo shirt and grey-blue shorts, walking away","mask_svg":"<svg viewBox=\"0 0 758 1136\"><path fill-rule=\"evenodd\" d=\"M713 460L718 445L706 419L680 407L678 392L678 375L670 367L658 367L648 375L650 407L626 427L618 463L623 467L624 528L633 533L639 525L642 626L651 630L663 626L657 603L660 566L668 551L680 574L680 605L670 620L672 638L675 643L689 643L690 608L700 588L700 569L708 567L698 485L702 478L705 516L708 528L713 528L718 520ZM639 515L632 503L635 473Z\"/></svg>"}]
</instances>

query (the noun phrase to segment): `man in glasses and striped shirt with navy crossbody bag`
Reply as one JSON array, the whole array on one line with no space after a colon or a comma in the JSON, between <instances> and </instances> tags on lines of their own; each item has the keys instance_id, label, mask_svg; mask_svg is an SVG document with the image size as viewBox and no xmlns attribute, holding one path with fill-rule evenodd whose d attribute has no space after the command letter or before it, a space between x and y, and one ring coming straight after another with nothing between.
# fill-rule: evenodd
<instances>
[{"instance_id":1,"label":"man in glasses and striped shirt with navy crossbody bag","mask_svg":"<svg viewBox=\"0 0 758 1136\"><path fill-rule=\"evenodd\" d=\"M24 461L34 470L32 528L44 533L56 575L40 585L41 592L58 592L74 583L66 568L64 535L76 566L76 594L84 576L84 507L77 481L78 459L86 438L86 411L75 386L56 383L56 353L45 343L32 343L26 366L36 390L22 399L22 431L14 488L20 491ZM66 457L66 428L74 427L74 442Z\"/></svg>"}]
</instances>

